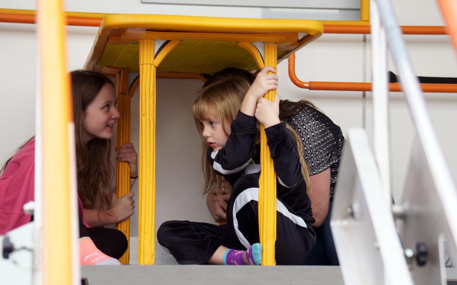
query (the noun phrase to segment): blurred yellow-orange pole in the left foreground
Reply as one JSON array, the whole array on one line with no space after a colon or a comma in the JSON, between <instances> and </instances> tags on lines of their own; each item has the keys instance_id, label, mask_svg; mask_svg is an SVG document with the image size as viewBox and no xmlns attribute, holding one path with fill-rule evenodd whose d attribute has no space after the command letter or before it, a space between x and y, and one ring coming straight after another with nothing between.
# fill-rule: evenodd
<instances>
[{"instance_id":1,"label":"blurred yellow-orange pole in the left foreground","mask_svg":"<svg viewBox=\"0 0 457 285\"><path fill-rule=\"evenodd\" d=\"M76 240L72 241L71 234L71 209L75 207L71 207L70 195L77 194L70 180L74 126L64 25L60 0L38 1L43 160L36 167L43 171L43 284L47 285L73 284L78 268L72 263Z\"/></svg>"}]
</instances>

